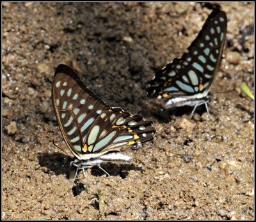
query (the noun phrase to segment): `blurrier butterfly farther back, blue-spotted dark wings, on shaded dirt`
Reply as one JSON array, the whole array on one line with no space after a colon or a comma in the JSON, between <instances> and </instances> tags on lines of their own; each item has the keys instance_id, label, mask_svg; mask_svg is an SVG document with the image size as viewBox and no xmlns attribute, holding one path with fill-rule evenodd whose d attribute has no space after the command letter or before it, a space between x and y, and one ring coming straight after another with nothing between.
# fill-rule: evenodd
<instances>
[{"instance_id":1,"label":"blurrier butterfly farther back, blue-spotted dark wings, on shaded dirt","mask_svg":"<svg viewBox=\"0 0 256 222\"><path fill-rule=\"evenodd\" d=\"M212 11L200 33L188 48L188 53L175 58L156 72L148 82L150 98L163 98L164 108L195 107L211 101L209 90L220 68L227 33L227 16L224 11Z\"/></svg>"}]
</instances>

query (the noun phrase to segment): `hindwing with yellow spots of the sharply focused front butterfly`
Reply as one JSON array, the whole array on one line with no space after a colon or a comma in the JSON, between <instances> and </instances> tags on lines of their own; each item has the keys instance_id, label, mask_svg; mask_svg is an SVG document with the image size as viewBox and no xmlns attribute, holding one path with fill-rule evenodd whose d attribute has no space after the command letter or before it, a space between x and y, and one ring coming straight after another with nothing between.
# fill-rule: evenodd
<instances>
[{"instance_id":1,"label":"hindwing with yellow spots of the sharply focused front butterfly","mask_svg":"<svg viewBox=\"0 0 256 222\"><path fill-rule=\"evenodd\" d=\"M99 117L88 132L88 151L105 152L121 145L136 145L153 138L152 122L141 115L131 115L121 108L111 108ZM101 120L103 119L103 121ZM100 126L100 127L99 127Z\"/></svg>"}]
</instances>

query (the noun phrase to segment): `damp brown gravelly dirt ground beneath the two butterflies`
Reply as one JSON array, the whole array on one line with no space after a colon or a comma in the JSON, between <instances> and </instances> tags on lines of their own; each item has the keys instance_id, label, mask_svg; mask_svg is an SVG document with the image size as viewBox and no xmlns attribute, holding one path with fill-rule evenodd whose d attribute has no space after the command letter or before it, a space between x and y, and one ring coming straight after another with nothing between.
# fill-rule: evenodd
<instances>
[{"instance_id":1,"label":"damp brown gravelly dirt ground beneath the two butterflies","mask_svg":"<svg viewBox=\"0 0 256 222\"><path fill-rule=\"evenodd\" d=\"M2 219L254 219L254 102L239 91L254 91L254 4L219 4L227 44L211 92L237 90L190 119L145 88L212 5L3 3ZM154 141L127 150L132 164L102 165L111 177L93 167L70 182L71 158L52 144L71 153L51 101L61 63L111 107L154 121Z\"/></svg>"}]
</instances>

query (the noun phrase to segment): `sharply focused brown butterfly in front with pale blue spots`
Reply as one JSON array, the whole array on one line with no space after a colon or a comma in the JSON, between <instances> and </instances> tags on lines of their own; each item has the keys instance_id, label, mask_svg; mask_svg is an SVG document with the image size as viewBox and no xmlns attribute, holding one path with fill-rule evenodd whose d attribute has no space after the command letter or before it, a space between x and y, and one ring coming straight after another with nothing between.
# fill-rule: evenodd
<instances>
[{"instance_id":1,"label":"sharply focused brown butterfly in front with pale blue spots","mask_svg":"<svg viewBox=\"0 0 256 222\"><path fill-rule=\"evenodd\" d=\"M76 156L72 168L90 168L109 161L131 163L120 152L154 138L152 121L109 107L84 85L77 73L60 64L52 82L52 103L61 134Z\"/></svg>"}]
</instances>

